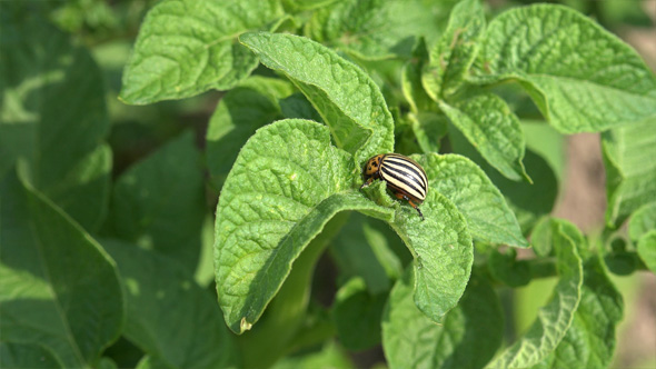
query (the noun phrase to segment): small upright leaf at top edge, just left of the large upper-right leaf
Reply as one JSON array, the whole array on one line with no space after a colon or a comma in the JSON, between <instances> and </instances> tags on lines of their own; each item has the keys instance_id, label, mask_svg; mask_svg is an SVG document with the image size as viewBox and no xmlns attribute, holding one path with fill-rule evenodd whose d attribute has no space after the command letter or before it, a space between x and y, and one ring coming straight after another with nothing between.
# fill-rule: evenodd
<instances>
[{"instance_id":1,"label":"small upright leaf at top edge, just left of the large upper-right leaf","mask_svg":"<svg viewBox=\"0 0 656 369\"><path fill-rule=\"evenodd\" d=\"M479 0L460 1L449 17L449 24L430 49L430 61L425 67L421 82L435 100L456 92L471 67L485 29L485 14Z\"/></svg>"}]
</instances>

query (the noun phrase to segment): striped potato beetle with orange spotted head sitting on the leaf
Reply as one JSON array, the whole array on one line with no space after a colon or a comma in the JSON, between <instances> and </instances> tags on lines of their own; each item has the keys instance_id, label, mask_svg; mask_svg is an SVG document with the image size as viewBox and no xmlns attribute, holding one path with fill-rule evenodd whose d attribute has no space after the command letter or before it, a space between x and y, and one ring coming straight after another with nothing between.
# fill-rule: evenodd
<instances>
[{"instance_id":1,"label":"striped potato beetle with orange spotted head sitting on the leaf","mask_svg":"<svg viewBox=\"0 0 656 369\"><path fill-rule=\"evenodd\" d=\"M398 153L379 153L367 160L362 177L365 183L360 189L371 184L376 179L381 179L397 199L407 200L424 220L418 206L426 200L428 180L418 162Z\"/></svg>"}]
</instances>

